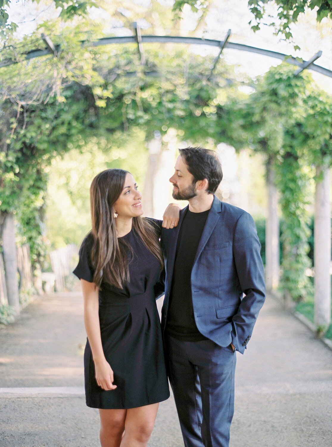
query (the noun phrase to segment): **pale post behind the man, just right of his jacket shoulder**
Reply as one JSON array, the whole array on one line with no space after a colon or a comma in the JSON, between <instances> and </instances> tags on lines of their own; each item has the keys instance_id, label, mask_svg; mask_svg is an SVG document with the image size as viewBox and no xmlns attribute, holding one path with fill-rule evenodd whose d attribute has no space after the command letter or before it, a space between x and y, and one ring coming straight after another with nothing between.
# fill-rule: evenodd
<instances>
[{"instance_id":1,"label":"pale post behind the man, just right of his jacket shoulder","mask_svg":"<svg viewBox=\"0 0 332 447\"><path fill-rule=\"evenodd\" d=\"M268 184L268 217L266 219L265 233L265 279L266 289L273 291L279 284L279 218L278 194L275 186L275 173L270 163L266 165Z\"/></svg>"}]
</instances>

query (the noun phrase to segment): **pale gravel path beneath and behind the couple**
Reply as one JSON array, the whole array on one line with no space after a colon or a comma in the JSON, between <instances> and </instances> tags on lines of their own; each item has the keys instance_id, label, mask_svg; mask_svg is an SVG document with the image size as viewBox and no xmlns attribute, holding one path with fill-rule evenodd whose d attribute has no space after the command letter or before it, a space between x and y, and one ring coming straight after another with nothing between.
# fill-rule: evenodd
<instances>
[{"instance_id":1,"label":"pale gravel path beneath and behind the couple","mask_svg":"<svg viewBox=\"0 0 332 447\"><path fill-rule=\"evenodd\" d=\"M80 292L59 293L0 329L1 447L99 446L98 410L84 400L82 314ZM331 350L268 298L236 355L231 447L331 447ZM183 447L172 397L149 447Z\"/></svg>"}]
</instances>

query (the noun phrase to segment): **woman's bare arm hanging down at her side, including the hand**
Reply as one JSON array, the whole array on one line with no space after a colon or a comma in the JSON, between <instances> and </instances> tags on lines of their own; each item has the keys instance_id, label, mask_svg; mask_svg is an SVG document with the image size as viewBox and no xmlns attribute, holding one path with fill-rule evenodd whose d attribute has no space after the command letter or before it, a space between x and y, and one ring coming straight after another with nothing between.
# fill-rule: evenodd
<instances>
[{"instance_id":1,"label":"woman's bare arm hanging down at her side, including the hand","mask_svg":"<svg viewBox=\"0 0 332 447\"><path fill-rule=\"evenodd\" d=\"M113 385L113 371L105 358L101 344L98 287L85 279L81 279L81 286L84 298L84 325L95 364L97 384L105 390L113 390L116 388L116 385Z\"/></svg>"}]
</instances>

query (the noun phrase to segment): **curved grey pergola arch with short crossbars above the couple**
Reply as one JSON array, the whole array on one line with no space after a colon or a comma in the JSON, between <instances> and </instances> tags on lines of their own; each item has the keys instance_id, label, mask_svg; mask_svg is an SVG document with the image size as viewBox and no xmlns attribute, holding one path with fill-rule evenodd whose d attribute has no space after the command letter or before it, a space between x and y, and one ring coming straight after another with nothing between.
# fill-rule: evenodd
<instances>
[{"instance_id":1,"label":"curved grey pergola arch with short crossbars above the couple","mask_svg":"<svg viewBox=\"0 0 332 447\"><path fill-rule=\"evenodd\" d=\"M324 76L328 76L332 78L332 70L329 70L328 68L321 67L320 65L317 65L314 63L316 59L318 59L322 55L322 51L319 51L316 53L311 59L308 61L300 62L298 59L286 55L284 53L279 53L277 51L271 51L271 50L265 50L263 48L258 48L255 46L249 46L244 45L242 43L235 43L235 42L229 42L228 38L231 34L231 30L228 30L227 35L224 40L212 40L212 39L204 39L204 38L197 38L197 37L181 37L181 36L152 36L152 35L145 35L142 36L140 33L139 26L134 22L134 35L133 36L124 36L124 37L104 37L100 38L95 42L87 42L87 41L81 41L81 44L88 44L90 46L99 46L99 45L110 45L110 44L124 44L124 43L136 43L138 45L139 55L141 64L144 65L145 63L145 56L143 54L143 43L185 43L189 45L209 45L209 46L217 46L220 48L219 55L214 61L214 67L216 66L216 63L219 60L219 56L221 55L224 48L227 49L233 49L238 51L247 51L251 53L261 54L264 56L272 57L274 59L280 59L284 60L287 63L290 63L292 65L298 66L298 70L294 73L295 76L298 75L298 73L302 72L303 70L312 70L315 72L318 72ZM60 50L61 47L59 45L53 45L52 41L48 36L42 35L42 39L46 44L46 48L44 50L36 49L29 51L25 53L25 59L34 59L40 56L44 56L47 54L53 54L56 55ZM17 61L14 61L12 59L5 59L2 62L0 62L0 68L6 67L8 65L12 65L13 63L17 63ZM212 71L214 69L212 68L209 77L212 74Z\"/></svg>"}]
</instances>

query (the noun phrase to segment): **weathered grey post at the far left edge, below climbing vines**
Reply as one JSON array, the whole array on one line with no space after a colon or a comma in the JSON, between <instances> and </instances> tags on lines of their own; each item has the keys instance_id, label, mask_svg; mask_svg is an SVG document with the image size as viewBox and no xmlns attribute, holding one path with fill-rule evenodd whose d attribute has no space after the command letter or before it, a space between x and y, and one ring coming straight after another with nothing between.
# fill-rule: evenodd
<instances>
[{"instance_id":1,"label":"weathered grey post at the far left edge, below climbing vines","mask_svg":"<svg viewBox=\"0 0 332 447\"><path fill-rule=\"evenodd\" d=\"M4 272L8 304L20 313L17 278L17 255L15 245L15 219L13 213L2 212L2 240L4 250Z\"/></svg>"}]
</instances>

